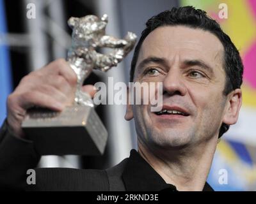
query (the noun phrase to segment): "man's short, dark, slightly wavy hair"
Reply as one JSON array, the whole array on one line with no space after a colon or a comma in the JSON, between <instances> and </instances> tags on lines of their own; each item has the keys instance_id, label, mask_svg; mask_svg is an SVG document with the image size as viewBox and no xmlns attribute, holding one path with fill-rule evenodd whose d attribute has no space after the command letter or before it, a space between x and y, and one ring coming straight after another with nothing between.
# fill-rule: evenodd
<instances>
[{"instance_id":1,"label":"man's short, dark, slightly wavy hair","mask_svg":"<svg viewBox=\"0 0 256 204\"><path fill-rule=\"evenodd\" d=\"M218 22L207 16L205 11L195 9L193 6L172 8L172 10L163 11L147 21L146 28L142 31L140 40L134 49L131 62L130 82L132 82L134 78L134 69L143 41L154 29L166 25L184 25L193 29L209 31L214 34L224 47L223 68L226 73L226 82L223 94L227 96L231 91L241 87L243 82L243 62L239 51L234 43L232 43L229 36L222 31ZM227 124L221 124L219 138L228 131L228 128L229 126Z\"/></svg>"}]
</instances>

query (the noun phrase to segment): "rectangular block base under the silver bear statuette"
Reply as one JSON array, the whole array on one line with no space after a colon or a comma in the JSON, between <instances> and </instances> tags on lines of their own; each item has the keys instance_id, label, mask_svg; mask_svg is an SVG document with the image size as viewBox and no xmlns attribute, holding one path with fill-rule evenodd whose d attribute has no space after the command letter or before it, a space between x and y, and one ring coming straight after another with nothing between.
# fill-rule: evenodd
<instances>
[{"instance_id":1,"label":"rectangular block base under the silver bear statuette","mask_svg":"<svg viewBox=\"0 0 256 204\"><path fill-rule=\"evenodd\" d=\"M62 112L35 108L27 113L22 129L40 155L101 155L108 139L91 106L70 106Z\"/></svg>"}]
</instances>

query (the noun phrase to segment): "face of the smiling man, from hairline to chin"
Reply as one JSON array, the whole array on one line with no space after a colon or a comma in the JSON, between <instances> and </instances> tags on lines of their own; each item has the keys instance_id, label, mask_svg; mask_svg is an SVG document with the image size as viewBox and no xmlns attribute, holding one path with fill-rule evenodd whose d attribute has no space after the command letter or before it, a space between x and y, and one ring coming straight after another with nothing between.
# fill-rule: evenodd
<instances>
[{"instance_id":1,"label":"face of the smiling man, from hairline to chin","mask_svg":"<svg viewBox=\"0 0 256 204\"><path fill-rule=\"evenodd\" d=\"M169 113L128 105L125 119L134 118L139 143L182 148L218 137L227 106L223 54L220 40L201 29L164 26L148 34L134 82L163 82L163 107Z\"/></svg>"}]
</instances>

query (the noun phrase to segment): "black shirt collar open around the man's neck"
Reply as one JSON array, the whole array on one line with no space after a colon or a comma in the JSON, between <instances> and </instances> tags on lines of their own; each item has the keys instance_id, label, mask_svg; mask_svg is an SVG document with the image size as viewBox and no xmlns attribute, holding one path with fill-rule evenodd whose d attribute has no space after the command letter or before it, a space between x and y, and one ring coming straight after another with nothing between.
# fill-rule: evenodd
<instances>
[{"instance_id":1,"label":"black shirt collar open around the man's neck","mask_svg":"<svg viewBox=\"0 0 256 204\"><path fill-rule=\"evenodd\" d=\"M131 150L122 179L127 191L177 191L172 184L166 184L136 150ZM213 191L213 189L205 182L203 191Z\"/></svg>"}]
</instances>

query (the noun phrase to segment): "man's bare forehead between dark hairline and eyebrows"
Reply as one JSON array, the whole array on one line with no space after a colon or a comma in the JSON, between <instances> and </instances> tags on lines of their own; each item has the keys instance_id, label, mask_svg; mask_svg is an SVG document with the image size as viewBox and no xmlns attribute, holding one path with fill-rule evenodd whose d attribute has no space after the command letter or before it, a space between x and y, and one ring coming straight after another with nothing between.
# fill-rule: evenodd
<instances>
[{"instance_id":1,"label":"man's bare forehead between dark hairline and eyebrows","mask_svg":"<svg viewBox=\"0 0 256 204\"><path fill-rule=\"evenodd\" d=\"M184 25L163 26L148 34L140 49L139 61L148 56L164 57L172 60L179 57L200 58L216 65L223 61L223 45L209 31L194 29Z\"/></svg>"}]
</instances>

